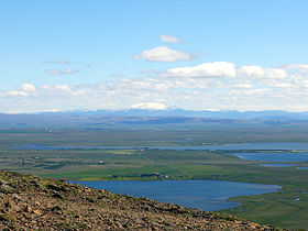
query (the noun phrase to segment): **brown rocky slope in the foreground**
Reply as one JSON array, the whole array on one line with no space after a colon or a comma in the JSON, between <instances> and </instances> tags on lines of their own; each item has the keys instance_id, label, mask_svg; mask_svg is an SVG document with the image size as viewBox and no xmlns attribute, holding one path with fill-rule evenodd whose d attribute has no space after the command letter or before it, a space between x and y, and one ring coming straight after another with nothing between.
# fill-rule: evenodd
<instances>
[{"instance_id":1,"label":"brown rocky slope in the foreground","mask_svg":"<svg viewBox=\"0 0 308 231\"><path fill-rule=\"evenodd\" d=\"M233 217L0 172L0 230L276 230Z\"/></svg>"}]
</instances>

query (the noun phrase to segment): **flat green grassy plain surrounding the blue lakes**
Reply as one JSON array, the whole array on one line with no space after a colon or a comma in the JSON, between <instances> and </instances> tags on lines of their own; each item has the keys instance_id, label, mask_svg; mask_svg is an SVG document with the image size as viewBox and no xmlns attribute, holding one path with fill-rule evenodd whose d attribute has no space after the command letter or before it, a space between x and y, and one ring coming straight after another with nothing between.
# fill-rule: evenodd
<instances>
[{"instance_id":1,"label":"flat green grassy plain surrounding the blue lakes","mask_svg":"<svg viewBox=\"0 0 308 231\"><path fill-rule=\"evenodd\" d=\"M288 133L286 133L288 132ZM308 170L262 167L226 152L162 150L20 150L41 145L198 145L202 143L307 141L305 129L218 129L195 131L53 130L0 131L0 168L45 177L102 179L223 179L283 186L274 194L231 198L242 205L223 210L282 228L308 227ZM287 140L289 139L289 140ZM263 162L265 163L265 162ZM297 163L308 166L308 163Z\"/></svg>"}]
</instances>

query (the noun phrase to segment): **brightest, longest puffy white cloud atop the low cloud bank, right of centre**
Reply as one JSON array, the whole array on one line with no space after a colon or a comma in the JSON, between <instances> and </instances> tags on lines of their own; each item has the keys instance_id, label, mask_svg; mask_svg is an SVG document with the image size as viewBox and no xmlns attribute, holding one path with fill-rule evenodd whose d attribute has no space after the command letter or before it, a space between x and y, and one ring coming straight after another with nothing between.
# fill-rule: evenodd
<instances>
[{"instance_id":1,"label":"brightest, longest puffy white cloud atop the low cloud bank, right of centre","mask_svg":"<svg viewBox=\"0 0 308 231\"><path fill-rule=\"evenodd\" d=\"M228 62L204 63L193 67L177 67L167 69L163 77L235 77L234 64Z\"/></svg>"}]
</instances>

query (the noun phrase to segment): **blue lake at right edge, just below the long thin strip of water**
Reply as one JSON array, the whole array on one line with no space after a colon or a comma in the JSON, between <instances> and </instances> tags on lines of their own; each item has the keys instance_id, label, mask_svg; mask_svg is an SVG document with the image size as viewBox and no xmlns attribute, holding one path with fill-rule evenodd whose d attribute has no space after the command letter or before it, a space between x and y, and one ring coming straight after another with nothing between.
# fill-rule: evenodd
<instances>
[{"instance_id":1,"label":"blue lake at right edge, just below the long thin strip of water","mask_svg":"<svg viewBox=\"0 0 308 231\"><path fill-rule=\"evenodd\" d=\"M230 155L257 162L308 162L308 153L232 153Z\"/></svg>"}]
</instances>

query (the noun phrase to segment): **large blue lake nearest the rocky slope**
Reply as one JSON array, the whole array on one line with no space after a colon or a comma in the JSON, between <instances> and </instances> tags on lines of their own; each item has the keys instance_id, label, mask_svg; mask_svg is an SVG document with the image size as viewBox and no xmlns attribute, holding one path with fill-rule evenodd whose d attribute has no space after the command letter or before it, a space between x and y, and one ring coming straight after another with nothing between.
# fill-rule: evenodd
<instances>
[{"instance_id":1,"label":"large blue lake nearest the rocky slope","mask_svg":"<svg viewBox=\"0 0 308 231\"><path fill-rule=\"evenodd\" d=\"M70 182L74 183L74 182ZM162 202L178 204L204 211L215 211L239 206L229 197L261 195L277 191L280 186L226 180L116 180L78 182L82 186L107 189L116 194L147 197Z\"/></svg>"}]
</instances>

